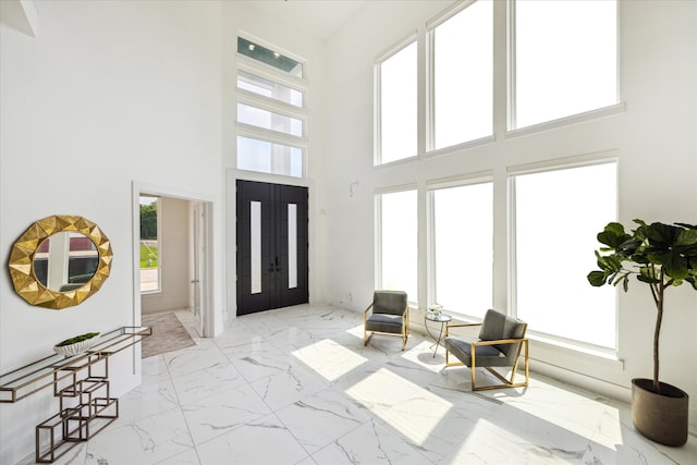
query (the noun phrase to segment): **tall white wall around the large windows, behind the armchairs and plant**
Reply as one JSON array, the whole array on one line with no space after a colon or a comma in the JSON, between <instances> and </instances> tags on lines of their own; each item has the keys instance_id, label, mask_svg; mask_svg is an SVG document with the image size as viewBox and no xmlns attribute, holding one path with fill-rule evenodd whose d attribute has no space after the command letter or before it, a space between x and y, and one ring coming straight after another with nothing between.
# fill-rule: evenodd
<instances>
[{"instance_id":1,"label":"tall white wall around the large windows, behind the armchairs and plant","mask_svg":"<svg viewBox=\"0 0 697 465\"><path fill-rule=\"evenodd\" d=\"M451 2L366 2L327 45L327 261L329 301L362 310L375 284L374 196L381 187L414 183L424 192L427 180L490 171L494 180L494 306L505 309L508 243L505 238L506 168L565 157L608 154L619 158L620 221L697 223L697 2L623 1L621 23L621 88L625 111L525 136L505 137L505 121L494 121L497 142L372 168L372 66L375 57L417 29ZM494 14L505 17L504 2ZM390 21L384 19L389 17ZM494 44L496 66L505 63L505 44ZM423 53L423 47L419 53ZM424 75L419 76L424 82ZM505 83L497 82L494 100L505 101ZM421 108L424 102L420 102ZM358 181L354 196L350 184ZM425 236L426 218L419 215ZM420 264L425 256L420 241ZM592 254L592 250L588 252ZM563 380L628 400L629 380L651 377L651 336L655 308L648 291L633 283L619 295L621 362L583 356L574 351L535 343L534 367ZM426 306L426 283L419 282L419 307ZM353 295L353 301L348 294ZM573 298L573 296L570 296ZM563 302L560 303L563 305ZM697 397L697 293L683 286L670 290L661 334L661 379ZM423 314L412 314L414 323ZM578 316L583 318L583 315ZM573 367L572 370L557 367ZM577 371L577 372L574 372ZM607 382L599 381L606 380ZM690 406L690 426L697 406Z\"/></svg>"}]
</instances>

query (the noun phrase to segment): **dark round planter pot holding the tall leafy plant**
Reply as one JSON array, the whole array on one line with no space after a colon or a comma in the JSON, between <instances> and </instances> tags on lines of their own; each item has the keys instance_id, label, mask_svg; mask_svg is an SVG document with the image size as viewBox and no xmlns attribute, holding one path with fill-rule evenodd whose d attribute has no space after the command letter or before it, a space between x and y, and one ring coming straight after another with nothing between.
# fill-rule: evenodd
<instances>
[{"instance_id":1,"label":"dark round planter pot holding the tall leafy plant","mask_svg":"<svg viewBox=\"0 0 697 465\"><path fill-rule=\"evenodd\" d=\"M653 391L653 380L632 380L632 421L641 435L664 445L687 442L689 396L674 386L659 382L661 393Z\"/></svg>"}]
</instances>

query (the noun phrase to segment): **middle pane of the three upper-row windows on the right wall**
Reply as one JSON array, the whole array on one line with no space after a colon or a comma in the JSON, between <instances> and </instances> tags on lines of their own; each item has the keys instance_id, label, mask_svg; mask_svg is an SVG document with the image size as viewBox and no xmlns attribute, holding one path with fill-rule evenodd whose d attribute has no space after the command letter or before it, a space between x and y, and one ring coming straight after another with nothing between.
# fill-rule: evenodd
<instances>
[{"instance_id":1,"label":"middle pane of the three upper-row windows on the right wall","mask_svg":"<svg viewBox=\"0 0 697 465\"><path fill-rule=\"evenodd\" d=\"M492 11L479 0L432 32L436 149L493 133Z\"/></svg>"}]
</instances>

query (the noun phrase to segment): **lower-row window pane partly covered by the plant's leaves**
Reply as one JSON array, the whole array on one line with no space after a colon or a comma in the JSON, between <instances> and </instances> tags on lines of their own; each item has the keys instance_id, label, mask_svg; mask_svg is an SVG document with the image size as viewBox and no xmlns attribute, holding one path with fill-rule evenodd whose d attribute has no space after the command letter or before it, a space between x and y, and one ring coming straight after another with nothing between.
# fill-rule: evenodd
<instances>
[{"instance_id":1,"label":"lower-row window pane partly covered by the plant's leaves","mask_svg":"<svg viewBox=\"0 0 697 465\"><path fill-rule=\"evenodd\" d=\"M616 197L615 163L515 178L517 315L530 330L615 347L615 290L586 276Z\"/></svg>"}]
</instances>

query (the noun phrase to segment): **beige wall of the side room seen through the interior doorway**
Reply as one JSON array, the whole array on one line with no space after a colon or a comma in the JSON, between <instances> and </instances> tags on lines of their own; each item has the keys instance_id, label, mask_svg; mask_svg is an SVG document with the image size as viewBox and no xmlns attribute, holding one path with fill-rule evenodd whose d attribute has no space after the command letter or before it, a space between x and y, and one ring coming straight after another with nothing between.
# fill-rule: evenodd
<instances>
[{"instance_id":1,"label":"beige wall of the side room seen through the interior doorway","mask_svg":"<svg viewBox=\"0 0 697 465\"><path fill-rule=\"evenodd\" d=\"M178 198L160 199L160 292L140 297L140 313L152 314L189 307L189 220L188 201Z\"/></svg>"}]
</instances>

